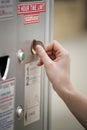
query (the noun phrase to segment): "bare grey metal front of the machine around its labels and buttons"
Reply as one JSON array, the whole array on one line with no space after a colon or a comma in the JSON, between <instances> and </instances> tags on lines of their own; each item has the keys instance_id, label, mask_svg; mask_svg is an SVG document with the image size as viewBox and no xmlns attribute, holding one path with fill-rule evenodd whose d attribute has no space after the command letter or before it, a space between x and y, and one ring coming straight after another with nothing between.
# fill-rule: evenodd
<instances>
[{"instance_id":1,"label":"bare grey metal front of the machine around its labels and buttons","mask_svg":"<svg viewBox=\"0 0 87 130\"><path fill-rule=\"evenodd\" d=\"M49 8L52 6L51 2L52 0L46 1L46 12L40 14L39 23L25 25L23 15L17 15L17 4L19 1L14 0L12 5L14 10L13 16L0 18L0 57L8 56L10 58L9 70L5 80L10 80L11 78L16 80L14 92L15 113L13 113L14 128L11 130L48 130L48 80L43 69L41 71L40 86L40 120L25 126L23 111L25 65L38 59L36 55L31 53L31 45L34 39L37 39L36 41L39 44L42 44L42 42L45 44L51 40L50 21L52 20L50 17L51 12L49 11ZM0 79L1 81L2 79Z\"/></svg>"}]
</instances>

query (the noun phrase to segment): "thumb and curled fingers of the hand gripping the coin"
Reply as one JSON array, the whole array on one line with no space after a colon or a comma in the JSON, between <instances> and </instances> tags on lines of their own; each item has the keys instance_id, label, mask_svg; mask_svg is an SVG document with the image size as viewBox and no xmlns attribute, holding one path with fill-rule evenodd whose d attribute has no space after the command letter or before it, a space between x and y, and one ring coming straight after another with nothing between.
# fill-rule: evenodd
<instances>
[{"instance_id":1,"label":"thumb and curled fingers of the hand gripping the coin","mask_svg":"<svg viewBox=\"0 0 87 130\"><path fill-rule=\"evenodd\" d=\"M66 50L57 41L53 41L43 49L40 45L36 46L36 52L40 57L38 66L48 66L52 61L58 60L62 55L66 54Z\"/></svg>"}]
</instances>

